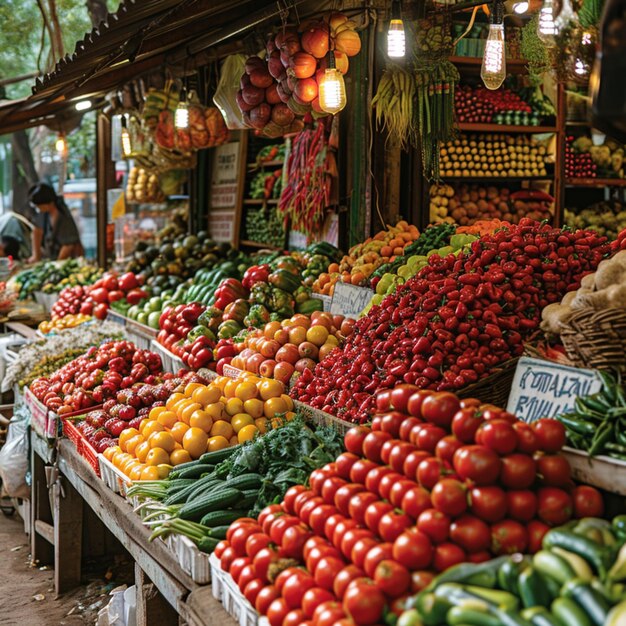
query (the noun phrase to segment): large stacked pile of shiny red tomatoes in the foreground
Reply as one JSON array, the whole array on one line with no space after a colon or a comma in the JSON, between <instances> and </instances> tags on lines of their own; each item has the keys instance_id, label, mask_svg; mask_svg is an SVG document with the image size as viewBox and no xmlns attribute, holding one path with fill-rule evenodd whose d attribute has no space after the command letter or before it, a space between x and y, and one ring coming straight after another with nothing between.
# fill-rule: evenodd
<instances>
[{"instance_id":1,"label":"large stacked pile of shiny red tomatoes in the foreground","mask_svg":"<svg viewBox=\"0 0 626 626\"><path fill-rule=\"evenodd\" d=\"M216 549L271 626L382 623L452 565L536 552L550 526L602 514L600 494L571 481L556 420L411 385L377 403L308 489L238 520Z\"/></svg>"}]
</instances>

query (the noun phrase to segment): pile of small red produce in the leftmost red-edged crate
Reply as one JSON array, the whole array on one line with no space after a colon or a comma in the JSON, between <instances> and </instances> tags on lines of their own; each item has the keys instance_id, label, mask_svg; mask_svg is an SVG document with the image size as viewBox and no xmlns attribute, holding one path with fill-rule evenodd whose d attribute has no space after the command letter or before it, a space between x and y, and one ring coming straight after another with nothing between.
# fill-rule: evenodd
<instances>
[{"instance_id":1,"label":"pile of small red produce in the leftmost red-edged crate","mask_svg":"<svg viewBox=\"0 0 626 626\"><path fill-rule=\"evenodd\" d=\"M158 354L130 341L111 341L37 378L30 390L48 409L64 415L102 404L135 383L154 383L162 372Z\"/></svg>"}]
</instances>

